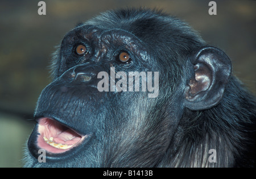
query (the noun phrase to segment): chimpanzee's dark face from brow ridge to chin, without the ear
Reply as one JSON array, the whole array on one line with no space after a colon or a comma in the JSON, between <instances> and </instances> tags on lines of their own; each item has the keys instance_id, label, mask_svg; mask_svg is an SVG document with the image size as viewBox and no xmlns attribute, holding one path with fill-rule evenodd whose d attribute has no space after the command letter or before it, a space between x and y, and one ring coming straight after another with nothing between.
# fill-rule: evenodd
<instances>
[{"instance_id":1,"label":"chimpanzee's dark face from brow ridge to chin, without the ear","mask_svg":"<svg viewBox=\"0 0 256 179\"><path fill-rule=\"evenodd\" d=\"M34 157L39 149L46 150L50 162L88 151L86 158L92 160L101 154L91 151L108 151L110 143L118 150L133 147L126 134L135 139L158 135L147 134L145 124L154 107L152 98L158 97L159 68L136 36L77 27L63 39L59 58L57 77L42 91L35 111L38 124L29 140Z\"/></svg>"}]
</instances>

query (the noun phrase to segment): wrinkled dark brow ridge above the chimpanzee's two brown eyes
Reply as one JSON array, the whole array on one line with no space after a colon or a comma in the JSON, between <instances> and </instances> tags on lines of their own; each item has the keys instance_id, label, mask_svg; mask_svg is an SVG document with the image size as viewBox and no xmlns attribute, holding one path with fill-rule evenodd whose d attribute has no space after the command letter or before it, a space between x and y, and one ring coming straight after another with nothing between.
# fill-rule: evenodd
<instances>
[{"instance_id":1,"label":"wrinkled dark brow ridge above the chimpanzee's two brown eyes","mask_svg":"<svg viewBox=\"0 0 256 179\"><path fill-rule=\"evenodd\" d=\"M63 39L64 44L85 43L95 48L125 48L129 51L146 51L141 39L121 28L104 29L92 25L84 25L68 32Z\"/></svg>"}]
</instances>

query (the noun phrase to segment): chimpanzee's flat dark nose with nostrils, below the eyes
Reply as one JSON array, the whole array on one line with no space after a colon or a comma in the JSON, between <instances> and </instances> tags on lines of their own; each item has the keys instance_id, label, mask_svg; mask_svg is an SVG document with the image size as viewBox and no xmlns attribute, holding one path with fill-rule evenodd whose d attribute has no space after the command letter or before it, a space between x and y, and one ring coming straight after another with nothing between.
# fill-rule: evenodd
<instances>
[{"instance_id":1,"label":"chimpanzee's flat dark nose with nostrils, below the eyes","mask_svg":"<svg viewBox=\"0 0 256 179\"><path fill-rule=\"evenodd\" d=\"M96 76L96 70L92 65L77 65L67 70L63 76L63 80L68 82L88 82Z\"/></svg>"}]
</instances>

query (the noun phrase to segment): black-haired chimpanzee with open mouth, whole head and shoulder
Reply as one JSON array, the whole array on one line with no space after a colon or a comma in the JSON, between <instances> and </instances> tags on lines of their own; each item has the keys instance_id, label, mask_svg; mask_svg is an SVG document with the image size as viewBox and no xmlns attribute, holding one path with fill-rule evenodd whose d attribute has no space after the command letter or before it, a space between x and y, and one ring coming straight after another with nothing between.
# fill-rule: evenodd
<instances>
[{"instance_id":1,"label":"black-haired chimpanzee with open mouth, whole head and shoulder","mask_svg":"<svg viewBox=\"0 0 256 179\"><path fill-rule=\"evenodd\" d=\"M80 23L52 77L26 167L254 166L255 97L229 57L174 16L121 9Z\"/></svg>"}]
</instances>

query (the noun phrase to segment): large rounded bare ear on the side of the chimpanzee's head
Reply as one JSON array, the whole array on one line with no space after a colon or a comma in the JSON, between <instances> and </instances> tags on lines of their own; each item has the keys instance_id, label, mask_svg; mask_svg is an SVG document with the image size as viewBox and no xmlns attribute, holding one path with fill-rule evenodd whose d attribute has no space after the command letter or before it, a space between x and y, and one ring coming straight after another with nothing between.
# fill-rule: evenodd
<instances>
[{"instance_id":1,"label":"large rounded bare ear on the side of the chimpanzee's head","mask_svg":"<svg viewBox=\"0 0 256 179\"><path fill-rule=\"evenodd\" d=\"M194 74L185 88L185 107L204 110L217 105L231 73L229 57L215 47L203 47L191 57Z\"/></svg>"}]
</instances>

